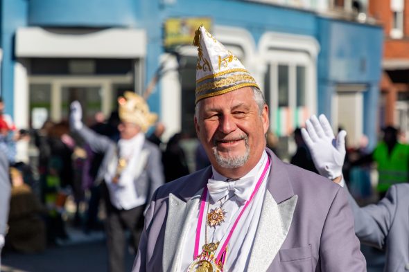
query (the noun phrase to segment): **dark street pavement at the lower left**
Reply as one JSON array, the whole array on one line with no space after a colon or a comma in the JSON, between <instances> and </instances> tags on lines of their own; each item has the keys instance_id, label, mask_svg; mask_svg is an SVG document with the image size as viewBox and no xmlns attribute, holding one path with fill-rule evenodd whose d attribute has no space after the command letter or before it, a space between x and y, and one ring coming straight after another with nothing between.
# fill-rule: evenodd
<instances>
[{"instance_id":1,"label":"dark street pavement at the lower left","mask_svg":"<svg viewBox=\"0 0 409 272\"><path fill-rule=\"evenodd\" d=\"M21 254L3 252L1 272L105 272L107 249L101 232L86 235L80 230L69 230L70 239L58 246L46 248L43 253ZM125 256L125 272L131 271L134 255Z\"/></svg>"}]
</instances>

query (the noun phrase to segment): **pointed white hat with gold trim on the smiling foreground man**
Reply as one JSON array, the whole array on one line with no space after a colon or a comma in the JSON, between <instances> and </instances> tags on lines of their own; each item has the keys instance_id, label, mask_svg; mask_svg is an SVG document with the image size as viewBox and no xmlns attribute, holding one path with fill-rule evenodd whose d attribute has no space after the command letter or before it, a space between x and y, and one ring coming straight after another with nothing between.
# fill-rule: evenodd
<instances>
[{"instance_id":1,"label":"pointed white hat with gold trim on the smiling foreground man","mask_svg":"<svg viewBox=\"0 0 409 272\"><path fill-rule=\"evenodd\" d=\"M195 31L193 45L198 47L195 103L243 87L259 88L240 60L204 26Z\"/></svg>"}]
</instances>

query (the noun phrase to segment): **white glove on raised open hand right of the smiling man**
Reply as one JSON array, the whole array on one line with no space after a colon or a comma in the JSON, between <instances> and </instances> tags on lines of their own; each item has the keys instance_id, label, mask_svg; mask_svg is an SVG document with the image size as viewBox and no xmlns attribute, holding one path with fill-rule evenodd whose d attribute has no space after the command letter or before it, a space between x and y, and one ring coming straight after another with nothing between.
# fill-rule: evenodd
<instances>
[{"instance_id":1,"label":"white glove on raised open hand right of the smiling man","mask_svg":"<svg viewBox=\"0 0 409 272\"><path fill-rule=\"evenodd\" d=\"M328 179L342 176L347 132L342 130L335 138L327 117L321 114L320 120L315 115L306 120L306 129L303 128L301 133L318 172Z\"/></svg>"}]
</instances>

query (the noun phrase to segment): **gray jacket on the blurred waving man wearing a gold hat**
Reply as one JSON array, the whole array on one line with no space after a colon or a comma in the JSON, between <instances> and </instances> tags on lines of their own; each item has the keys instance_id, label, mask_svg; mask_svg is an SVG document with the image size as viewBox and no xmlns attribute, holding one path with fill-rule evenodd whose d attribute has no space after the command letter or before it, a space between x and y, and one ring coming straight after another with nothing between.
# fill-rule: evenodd
<instances>
[{"instance_id":1,"label":"gray jacket on the blurred waving man wearing a gold hat","mask_svg":"<svg viewBox=\"0 0 409 272\"><path fill-rule=\"evenodd\" d=\"M107 165L110 160L116 155L116 143L107 138L92 131L88 127L82 126L82 129L76 131L91 147L94 152L104 153L104 158L96 174L96 181L103 181L107 172ZM139 196L146 197L149 201L153 192L164 183L164 172L162 167L161 153L156 145L145 140L142 147L142 152L148 153L148 159L146 166L143 167L143 171L136 177L134 183Z\"/></svg>"}]
</instances>

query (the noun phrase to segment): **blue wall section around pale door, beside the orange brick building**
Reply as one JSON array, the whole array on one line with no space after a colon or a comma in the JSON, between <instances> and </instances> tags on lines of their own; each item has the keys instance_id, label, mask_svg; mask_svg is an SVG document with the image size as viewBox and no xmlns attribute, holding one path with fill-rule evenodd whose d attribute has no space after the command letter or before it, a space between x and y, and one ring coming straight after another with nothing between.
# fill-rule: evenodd
<instances>
[{"instance_id":1,"label":"blue wall section around pale door, beside the orange brick building","mask_svg":"<svg viewBox=\"0 0 409 272\"><path fill-rule=\"evenodd\" d=\"M336 91L336 84L366 84L363 133L369 138L369 147L374 147L383 30L380 26L327 18L317 19L317 29L317 39L321 45L318 57L318 113L331 116L331 97Z\"/></svg>"}]
</instances>

